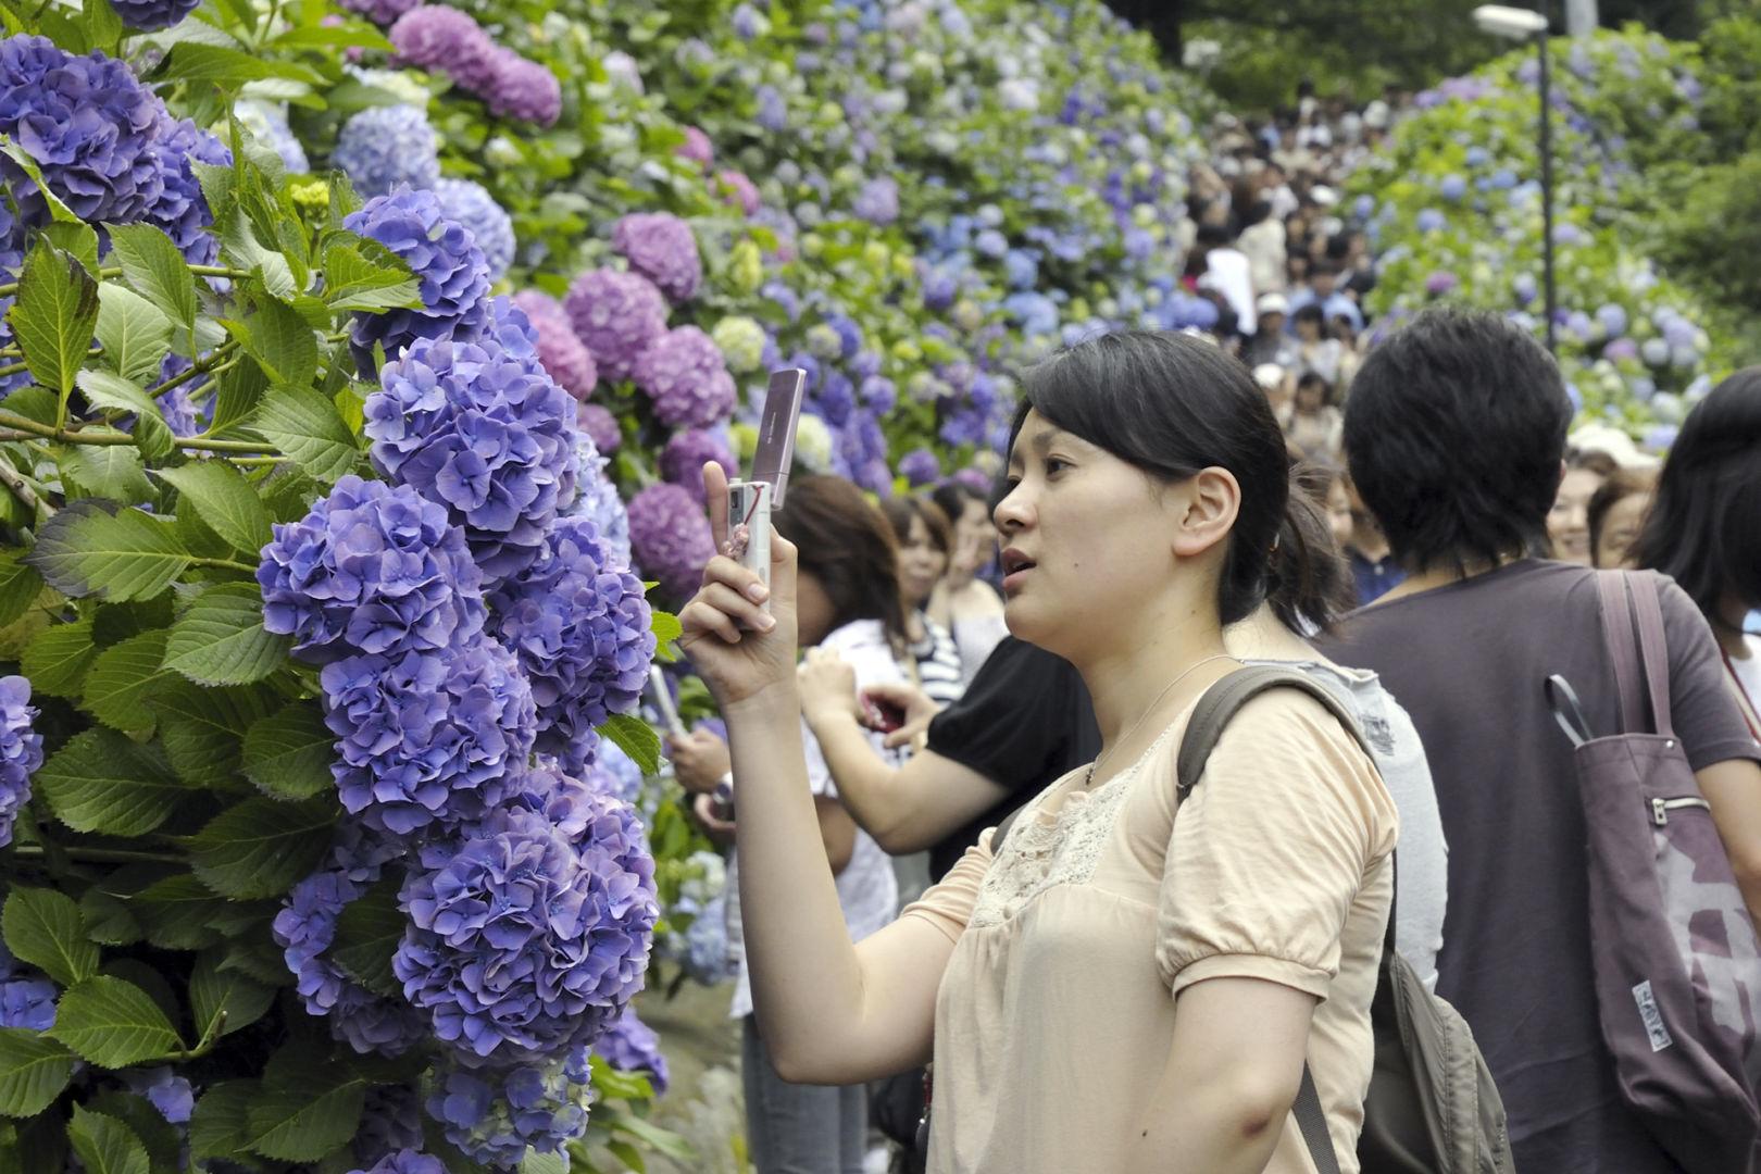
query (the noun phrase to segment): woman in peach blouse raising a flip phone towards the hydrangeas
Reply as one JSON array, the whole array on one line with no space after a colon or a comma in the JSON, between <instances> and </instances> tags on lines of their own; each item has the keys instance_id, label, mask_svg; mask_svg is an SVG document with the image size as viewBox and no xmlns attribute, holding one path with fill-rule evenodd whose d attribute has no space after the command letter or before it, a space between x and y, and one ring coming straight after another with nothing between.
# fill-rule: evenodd
<instances>
[{"instance_id":1,"label":"woman in peach blouse raising a flip phone towards the hydrangeas","mask_svg":"<svg viewBox=\"0 0 1761 1174\"><path fill-rule=\"evenodd\" d=\"M711 560L682 613L729 729L770 1054L854 1082L933 1047L935 1174L1305 1172L1305 1088L1356 1170L1393 801L1305 688L1252 697L1178 799L1183 723L1240 667L1222 627L1301 558L1277 421L1245 368L1178 334L1083 341L1023 394L995 510L1006 614L1081 672L1102 750L893 926L849 942L815 843L794 549L773 542L768 590ZM720 540L726 482L704 477Z\"/></svg>"}]
</instances>

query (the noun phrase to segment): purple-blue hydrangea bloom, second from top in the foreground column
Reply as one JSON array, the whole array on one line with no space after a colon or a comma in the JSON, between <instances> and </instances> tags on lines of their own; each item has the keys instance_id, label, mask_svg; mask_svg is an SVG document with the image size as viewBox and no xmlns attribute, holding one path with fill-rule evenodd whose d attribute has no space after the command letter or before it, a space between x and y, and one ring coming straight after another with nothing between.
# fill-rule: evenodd
<instances>
[{"instance_id":1,"label":"purple-blue hydrangea bloom, second from top in the foreground column","mask_svg":"<svg viewBox=\"0 0 1761 1174\"><path fill-rule=\"evenodd\" d=\"M574 400L527 315L497 297L479 341L417 338L366 398L373 465L446 505L488 584L528 567L574 496Z\"/></svg>"}]
</instances>

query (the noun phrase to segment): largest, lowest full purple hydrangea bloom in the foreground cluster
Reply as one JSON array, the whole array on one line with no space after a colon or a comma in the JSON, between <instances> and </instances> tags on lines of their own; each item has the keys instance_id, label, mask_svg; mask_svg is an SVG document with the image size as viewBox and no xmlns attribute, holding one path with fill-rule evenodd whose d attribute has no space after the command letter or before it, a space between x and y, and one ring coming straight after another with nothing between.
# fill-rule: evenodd
<instances>
[{"instance_id":1,"label":"largest, lowest full purple hydrangea bloom in the foreground cluster","mask_svg":"<svg viewBox=\"0 0 1761 1174\"><path fill-rule=\"evenodd\" d=\"M636 813L593 796L564 834L525 806L421 850L391 959L405 998L460 1054L530 1063L590 1042L641 987L659 905Z\"/></svg>"}]
</instances>

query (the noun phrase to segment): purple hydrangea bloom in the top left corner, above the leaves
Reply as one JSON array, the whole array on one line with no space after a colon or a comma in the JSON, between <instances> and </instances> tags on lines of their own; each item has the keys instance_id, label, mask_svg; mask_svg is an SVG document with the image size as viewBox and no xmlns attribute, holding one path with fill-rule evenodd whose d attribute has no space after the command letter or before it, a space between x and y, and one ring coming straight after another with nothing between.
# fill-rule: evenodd
<instances>
[{"instance_id":1,"label":"purple hydrangea bloom in the top left corner, above the leaves","mask_svg":"<svg viewBox=\"0 0 1761 1174\"><path fill-rule=\"evenodd\" d=\"M122 62L72 56L48 37L0 40L0 134L37 160L44 183L86 224L132 224L164 194L155 150L162 104ZM33 180L0 160L23 220L49 220Z\"/></svg>"}]
</instances>

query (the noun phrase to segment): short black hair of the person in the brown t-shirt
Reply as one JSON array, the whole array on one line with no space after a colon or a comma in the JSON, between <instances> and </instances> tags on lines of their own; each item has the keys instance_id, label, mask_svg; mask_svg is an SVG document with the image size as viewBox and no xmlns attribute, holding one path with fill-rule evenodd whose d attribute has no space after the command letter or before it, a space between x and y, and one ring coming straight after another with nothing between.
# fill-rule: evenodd
<instances>
[{"instance_id":1,"label":"short black hair of the person in the brown t-shirt","mask_svg":"<svg viewBox=\"0 0 1761 1174\"><path fill-rule=\"evenodd\" d=\"M1571 400L1553 357L1490 312L1426 310L1370 352L1345 459L1407 570L1548 549Z\"/></svg>"}]
</instances>

